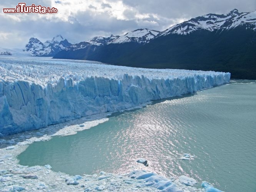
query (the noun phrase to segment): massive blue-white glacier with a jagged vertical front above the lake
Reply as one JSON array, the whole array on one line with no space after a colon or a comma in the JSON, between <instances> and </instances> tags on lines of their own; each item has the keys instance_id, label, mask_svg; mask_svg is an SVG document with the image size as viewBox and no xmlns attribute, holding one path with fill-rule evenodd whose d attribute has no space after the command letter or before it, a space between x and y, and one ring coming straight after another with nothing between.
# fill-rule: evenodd
<instances>
[{"instance_id":1,"label":"massive blue-white glacier with a jagged vertical front above the lake","mask_svg":"<svg viewBox=\"0 0 256 192\"><path fill-rule=\"evenodd\" d=\"M194 93L230 73L112 66L52 58L0 58L0 136Z\"/></svg>"}]
</instances>

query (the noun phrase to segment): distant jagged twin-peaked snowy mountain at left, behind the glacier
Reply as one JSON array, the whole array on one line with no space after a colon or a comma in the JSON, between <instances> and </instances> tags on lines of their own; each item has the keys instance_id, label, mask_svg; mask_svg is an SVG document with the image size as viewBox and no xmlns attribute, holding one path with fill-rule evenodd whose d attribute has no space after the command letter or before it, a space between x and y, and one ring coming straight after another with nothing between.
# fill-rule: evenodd
<instances>
[{"instance_id":1,"label":"distant jagged twin-peaked snowy mountain at left, behind the glacier","mask_svg":"<svg viewBox=\"0 0 256 192\"><path fill-rule=\"evenodd\" d=\"M68 40L64 39L61 35L53 37L52 40L47 40L42 43L37 38L30 38L25 46L25 52L30 53L32 56L54 56L61 50L72 45Z\"/></svg>"}]
</instances>

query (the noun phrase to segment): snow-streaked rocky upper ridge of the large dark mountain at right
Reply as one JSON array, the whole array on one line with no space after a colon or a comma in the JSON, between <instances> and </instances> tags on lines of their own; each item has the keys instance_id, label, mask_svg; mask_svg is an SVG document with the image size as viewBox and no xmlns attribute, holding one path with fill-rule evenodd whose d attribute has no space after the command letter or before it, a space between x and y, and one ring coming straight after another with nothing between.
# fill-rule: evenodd
<instances>
[{"instance_id":1,"label":"snow-streaked rocky upper ridge of the large dark mountain at right","mask_svg":"<svg viewBox=\"0 0 256 192\"><path fill-rule=\"evenodd\" d=\"M203 15L171 26L167 30L161 32L158 36L165 36L170 33L187 35L196 30L229 30L241 25L246 25L247 28L256 30L256 11L239 13L237 9L234 9L223 15Z\"/></svg>"}]
</instances>

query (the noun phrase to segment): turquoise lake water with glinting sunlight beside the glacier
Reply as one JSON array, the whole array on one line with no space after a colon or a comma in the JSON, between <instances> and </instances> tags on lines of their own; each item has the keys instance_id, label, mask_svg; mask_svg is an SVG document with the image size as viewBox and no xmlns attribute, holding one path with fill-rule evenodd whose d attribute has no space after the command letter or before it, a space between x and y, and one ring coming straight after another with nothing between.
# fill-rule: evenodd
<instances>
[{"instance_id":1,"label":"turquoise lake water with glinting sunlight beside the glacier","mask_svg":"<svg viewBox=\"0 0 256 192\"><path fill-rule=\"evenodd\" d=\"M181 160L184 153L193 160ZM136 163L143 157L149 166ZM256 191L256 81L231 83L114 113L75 135L31 144L21 165L71 175L135 168L187 175L229 192Z\"/></svg>"}]
</instances>

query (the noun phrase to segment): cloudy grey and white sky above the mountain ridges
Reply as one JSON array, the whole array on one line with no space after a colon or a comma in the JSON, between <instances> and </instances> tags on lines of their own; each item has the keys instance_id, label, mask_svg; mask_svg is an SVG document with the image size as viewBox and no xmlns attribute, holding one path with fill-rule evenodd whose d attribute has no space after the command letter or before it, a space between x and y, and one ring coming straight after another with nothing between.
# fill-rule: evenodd
<instances>
[{"instance_id":1,"label":"cloudy grey and white sky above the mountain ridges","mask_svg":"<svg viewBox=\"0 0 256 192\"><path fill-rule=\"evenodd\" d=\"M15 8L19 2L0 1L0 47L24 48L30 37L44 42L57 34L78 43L138 28L163 31L208 13L256 10L255 0L25 0L27 5L55 7L58 13L3 13L3 8Z\"/></svg>"}]
</instances>

